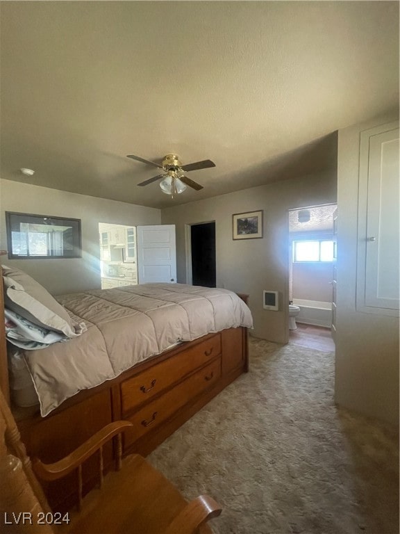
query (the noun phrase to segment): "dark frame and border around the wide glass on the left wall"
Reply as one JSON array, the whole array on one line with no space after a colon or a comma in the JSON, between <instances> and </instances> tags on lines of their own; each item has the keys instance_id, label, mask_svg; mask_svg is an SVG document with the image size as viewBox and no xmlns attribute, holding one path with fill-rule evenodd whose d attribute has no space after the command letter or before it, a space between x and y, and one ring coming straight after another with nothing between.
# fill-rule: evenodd
<instances>
[{"instance_id":1,"label":"dark frame and border around the wide glass on the left wall","mask_svg":"<svg viewBox=\"0 0 400 534\"><path fill-rule=\"evenodd\" d=\"M25 219L25 220L24 220ZM68 226L72 227L72 253L66 254L63 250L63 254L51 254L51 255L30 255L29 250L26 255L13 254L12 252L12 229L13 225L20 223L28 224L43 224L43 220L55 222L51 226ZM57 224L58 222L58 224ZM36 213L20 213L17 211L6 211L6 234L7 234L7 246L8 246L8 259L69 259L69 258L81 258L82 257L82 234L81 234L81 219L67 218L60 216L50 215L38 215Z\"/></svg>"}]
</instances>

